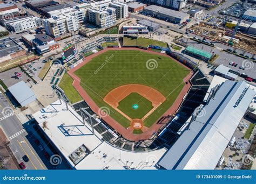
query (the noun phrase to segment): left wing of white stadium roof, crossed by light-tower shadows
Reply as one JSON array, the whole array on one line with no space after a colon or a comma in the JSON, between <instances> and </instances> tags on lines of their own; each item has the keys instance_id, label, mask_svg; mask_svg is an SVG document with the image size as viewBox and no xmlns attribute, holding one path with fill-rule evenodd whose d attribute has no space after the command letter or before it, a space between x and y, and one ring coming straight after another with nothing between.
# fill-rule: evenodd
<instances>
[{"instance_id":1,"label":"left wing of white stadium roof, crossed by light-tower shadows","mask_svg":"<svg viewBox=\"0 0 256 184\"><path fill-rule=\"evenodd\" d=\"M102 136L98 132L93 135L91 129L87 125L84 126L82 117L71 107L67 110L62 100L36 112L33 117L66 160L70 161L71 166L75 164L69 155L78 147L85 145L87 150L93 151L102 143Z\"/></svg>"}]
</instances>

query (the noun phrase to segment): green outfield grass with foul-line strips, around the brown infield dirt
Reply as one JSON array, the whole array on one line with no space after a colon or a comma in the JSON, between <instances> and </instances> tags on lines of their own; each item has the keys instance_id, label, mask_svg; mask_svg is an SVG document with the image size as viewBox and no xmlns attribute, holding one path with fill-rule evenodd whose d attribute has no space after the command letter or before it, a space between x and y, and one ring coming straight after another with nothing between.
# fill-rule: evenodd
<instances>
[{"instance_id":1,"label":"green outfield grass with foul-line strips, around the brown infield dirt","mask_svg":"<svg viewBox=\"0 0 256 184\"><path fill-rule=\"evenodd\" d=\"M112 58L107 60L112 55ZM146 62L156 60L156 69L147 69ZM104 65L103 65L104 64ZM95 73L98 68L99 72ZM81 79L81 86L87 91L98 107L110 108L110 116L124 127L130 126L129 119L119 114L103 101L109 91L124 84L144 84L157 89L166 97L144 122L150 127L176 100L185 83L184 77L190 73L184 66L167 56L143 51L107 51L93 58L79 68L75 74Z\"/></svg>"}]
</instances>

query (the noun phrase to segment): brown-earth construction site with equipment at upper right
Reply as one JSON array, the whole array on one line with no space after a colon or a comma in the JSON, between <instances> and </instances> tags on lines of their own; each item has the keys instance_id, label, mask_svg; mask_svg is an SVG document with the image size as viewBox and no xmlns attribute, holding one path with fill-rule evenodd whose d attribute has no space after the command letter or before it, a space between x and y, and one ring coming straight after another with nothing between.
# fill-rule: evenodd
<instances>
[{"instance_id":1,"label":"brown-earth construction site with equipment at upper right","mask_svg":"<svg viewBox=\"0 0 256 184\"><path fill-rule=\"evenodd\" d=\"M224 43L234 48L239 48L246 52L256 54L255 37L240 31L234 31L227 27L208 25L203 22L198 25L192 25L188 31L197 34L198 36L203 36L219 43Z\"/></svg>"}]
</instances>

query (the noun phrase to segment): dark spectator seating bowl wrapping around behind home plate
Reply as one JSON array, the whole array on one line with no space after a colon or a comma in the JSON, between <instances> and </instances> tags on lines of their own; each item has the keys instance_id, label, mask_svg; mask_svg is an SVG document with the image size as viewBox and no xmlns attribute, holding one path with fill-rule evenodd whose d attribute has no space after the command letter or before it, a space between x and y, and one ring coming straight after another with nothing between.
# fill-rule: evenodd
<instances>
[{"instance_id":1,"label":"dark spectator seating bowl wrapping around behind home plate","mask_svg":"<svg viewBox=\"0 0 256 184\"><path fill-rule=\"evenodd\" d=\"M87 119L90 119L89 115L91 115L93 128L103 136L102 140L109 141L114 146L122 148L123 150L145 152L162 147L170 148L180 136L177 132L192 115L194 109L203 103L204 96L210 86L210 82L200 70L197 70L190 82L192 87L190 91L188 91L177 114L170 117L163 117L163 121L161 121L161 123L165 125L163 125L161 130L147 140L130 141L126 140L118 133L114 136L112 132L116 131L104 122L103 119L100 119L101 122L99 123L96 120L97 114L90 109L89 105L85 101L72 104L72 107L79 115L80 108L85 109L85 111L88 112ZM87 121L87 123L90 125L89 121Z\"/></svg>"}]
</instances>

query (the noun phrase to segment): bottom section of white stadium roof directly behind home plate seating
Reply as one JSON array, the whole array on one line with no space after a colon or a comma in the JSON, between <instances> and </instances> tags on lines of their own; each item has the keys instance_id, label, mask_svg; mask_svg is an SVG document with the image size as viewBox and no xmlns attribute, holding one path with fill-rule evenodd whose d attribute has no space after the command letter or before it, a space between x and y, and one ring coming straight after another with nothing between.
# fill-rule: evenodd
<instances>
[{"instance_id":1,"label":"bottom section of white stadium roof directly behind home plate seating","mask_svg":"<svg viewBox=\"0 0 256 184\"><path fill-rule=\"evenodd\" d=\"M76 169L157 169L154 165L165 152L165 148L152 152L129 152L104 142L82 160Z\"/></svg>"}]
</instances>

